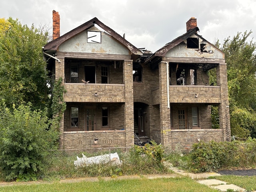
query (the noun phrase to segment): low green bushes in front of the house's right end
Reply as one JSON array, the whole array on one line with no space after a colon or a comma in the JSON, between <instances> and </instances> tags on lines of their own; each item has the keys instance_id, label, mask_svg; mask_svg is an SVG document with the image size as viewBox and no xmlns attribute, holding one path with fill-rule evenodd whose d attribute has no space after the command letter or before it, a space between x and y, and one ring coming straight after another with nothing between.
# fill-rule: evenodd
<instances>
[{"instance_id":1,"label":"low green bushes in front of the house's right end","mask_svg":"<svg viewBox=\"0 0 256 192\"><path fill-rule=\"evenodd\" d=\"M193 172L213 172L224 168L256 166L256 139L246 142L198 142L190 152L189 169Z\"/></svg>"}]
</instances>

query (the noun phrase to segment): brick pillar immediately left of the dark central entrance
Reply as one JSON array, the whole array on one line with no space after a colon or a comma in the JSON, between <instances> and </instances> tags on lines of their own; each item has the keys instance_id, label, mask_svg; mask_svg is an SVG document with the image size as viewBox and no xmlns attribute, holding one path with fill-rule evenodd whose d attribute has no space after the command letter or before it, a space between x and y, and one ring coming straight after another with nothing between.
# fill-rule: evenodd
<instances>
[{"instance_id":1,"label":"brick pillar immediately left of the dark central entrance","mask_svg":"<svg viewBox=\"0 0 256 192\"><path fill-rule=\"evenodd\" d=\"M125 85L124 128L126 130L126 146L134 145L134 108L132 60L123 63L123 79Z\"/></svg>"}]
</instances>

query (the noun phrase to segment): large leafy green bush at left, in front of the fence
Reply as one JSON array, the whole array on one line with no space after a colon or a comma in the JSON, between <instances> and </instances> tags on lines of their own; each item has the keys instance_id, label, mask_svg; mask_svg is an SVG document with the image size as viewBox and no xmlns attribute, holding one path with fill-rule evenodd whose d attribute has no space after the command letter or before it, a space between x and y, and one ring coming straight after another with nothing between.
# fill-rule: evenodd
<instances>
[{"instance_id":1,"label":"large leafy green bush at left, in front of the fence","mask_svg":"<svg viewBox=\"0 0 256 192\"><path fill-rule=\"evenodd\" d=\"M46 111L32 111L29 104L0 108L0 172L8 181L35 180L59 133L49 128Z\"/></svg>"}]
</instances>

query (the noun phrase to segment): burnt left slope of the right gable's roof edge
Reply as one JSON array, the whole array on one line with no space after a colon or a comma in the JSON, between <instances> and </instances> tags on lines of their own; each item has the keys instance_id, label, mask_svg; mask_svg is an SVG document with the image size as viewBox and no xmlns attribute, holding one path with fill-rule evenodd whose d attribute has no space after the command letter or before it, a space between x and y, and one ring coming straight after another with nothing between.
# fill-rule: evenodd
<instances>
[{"instance_id":1,"label":"burnt left slope of the right gable's roof edge","mask_svg":"<svg viewBox=\"0 0 256 192\"><path fill-rule=\"evenodd\" d=\"M149 58L146 59L145 63L149 62L155 57L162 57L165 56L165 54L172 48L174 48L176 45L180 44L187 38L189 38L191 35L196 34L196 32L199 31L198 27L195 27L194 29L188 30L185 34L177 37L176 39L172 40L171 42L167 43L165 46L157 50L154 54L152 54Z\"/></svg>"}]
</instances>

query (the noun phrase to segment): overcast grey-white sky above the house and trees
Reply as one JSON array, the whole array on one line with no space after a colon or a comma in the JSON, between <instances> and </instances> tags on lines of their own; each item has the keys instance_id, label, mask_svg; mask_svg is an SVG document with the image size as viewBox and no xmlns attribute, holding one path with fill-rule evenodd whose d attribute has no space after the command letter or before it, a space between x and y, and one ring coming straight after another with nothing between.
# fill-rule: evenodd
<instances>
[{"instance_id":1,"label":"overcast grey-white sky above the house and trees","mask_svg":"<svg viewBox=\"0 0 256 192\"><path fill-rule=\"evenodd\" d=\"M52 10L60 14L60 35L97 17L153 52L186 33L191 17L197 18L198 34L212 43L246 30L252 38L256 34L255 0L1 0L0 18L52 26Z\"/></svg>"}]
</instances>

